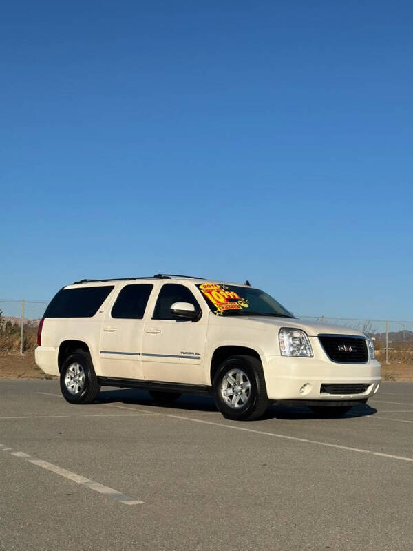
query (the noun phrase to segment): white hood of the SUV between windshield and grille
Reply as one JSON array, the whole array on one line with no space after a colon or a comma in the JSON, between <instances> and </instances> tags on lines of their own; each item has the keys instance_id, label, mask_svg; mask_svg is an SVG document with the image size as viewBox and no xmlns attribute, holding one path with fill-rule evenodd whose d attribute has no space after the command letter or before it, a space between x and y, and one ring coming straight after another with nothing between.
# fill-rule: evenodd
<instances>
[{"instance_id":1,"label":"white hood of the SUV between windshield and grille","mask_svg":"<svg viewBox=\"0 0 413 551\"><path fill-rule=\"evenodd\" d=\"M233 319L235 319L234 316ZM230 318L227 318L230 319ZM330 335L357 335L364 337L364 333L358 329L353 329L352 327L346 327L342 325L332 325L329 323L322 322L309 322L308 320L300 320L299 318L265 318L261 315L248 315L237 318L239 320L251 320L258 322L265 326L272 326L274 329L280 327L296 327L297 329L303 329L306 331L309 337L317 337L317 335L322 333L330 333ZM268 327L270 329L270 327Z\"/></svg>"}]
</instances>

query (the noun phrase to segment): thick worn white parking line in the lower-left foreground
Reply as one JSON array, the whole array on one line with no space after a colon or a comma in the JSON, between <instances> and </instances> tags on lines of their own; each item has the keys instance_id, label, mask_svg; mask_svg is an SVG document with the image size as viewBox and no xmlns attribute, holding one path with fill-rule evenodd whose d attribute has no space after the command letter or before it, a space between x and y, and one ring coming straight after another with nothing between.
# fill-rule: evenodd
<instances>
[{"instance_id":1,"label":"thick worn white parking line in the lower-left foreground","mask_svg":"<svg viewBox=\"0 0 413 551\"><path fill-rule=\"evenodd\" d=\"M12 449L12 448L6 448L5 444L0 444L0 448L2 448L3 451ZM120 503L124 503L125 505L142 505L143 503L143 501L140 501L138 499L133 499L132 497L128 497L122 492L118 492L118 490L114 490L114 488L109 488L109 486L104 486L99 482L94 482L93 480L90 480L86 477L82 477L81 475L76 475L76 472L71 472L70 470L66 470L62 467L49 463L48 461L43 461L43 459L36 459L35 457L32 457L28 453L11 452L10 455L14 455L15 457L21 457L21 459L25 459L26 461L28 461L28 463L32 463L33 465L37 465L43 469L50 470L54 472L56 475L60 475L61 477L72 480L72 482L76 482L76 484L81 484L81 486L90 488L91 490L94 490L95 492L99 492L100 494L106 495L107 497L116 499L116 501L119 501Z\"/></svg>"}]
</instances>

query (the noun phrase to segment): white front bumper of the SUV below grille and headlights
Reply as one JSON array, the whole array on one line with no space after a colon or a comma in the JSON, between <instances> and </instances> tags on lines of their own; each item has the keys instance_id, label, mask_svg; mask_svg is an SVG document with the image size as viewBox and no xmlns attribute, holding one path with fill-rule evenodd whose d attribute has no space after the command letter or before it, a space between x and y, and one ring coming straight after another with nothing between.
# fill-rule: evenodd
<instances>
[{"instance_id":1,"label":"white front bumper of the SUV below grille and headlights","mask_svg":"<svg viewBox=\"0 0 413 551\"><path fill-rule=\"evenodd\" d=\"M376 360L337 364L315 357L266 356L264 375L271 400L361 402L379 390L381 366ZM328 394L321 393L321 384L365 384L367 388L363 393Z\"/></svg>"}]
</instances>

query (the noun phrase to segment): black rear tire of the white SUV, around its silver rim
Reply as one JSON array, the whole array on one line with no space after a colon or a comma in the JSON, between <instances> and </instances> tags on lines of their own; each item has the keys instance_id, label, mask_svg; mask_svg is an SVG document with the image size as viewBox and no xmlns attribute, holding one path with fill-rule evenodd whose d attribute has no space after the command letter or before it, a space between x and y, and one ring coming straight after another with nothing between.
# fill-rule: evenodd
<instances>
[{"instance_id":1,"label":"black rear tire of the white SUV, around its silver rim","mask_svg":"<svg viewBox=\"0 0 413 551\"><path fill-rule=\"evenodd\" d=\"M72 371L74 366L81 366L81 373L83 373L83 385L79 388L78 392L75 388L72 388L70 392L69 387L66 384L66 376L72 377ZM68 373L70 372L70 373ZM73 377L72 377L72 380ZM67 356L63 362L60 376L61 392L63 397L70 404L91 404L98 397L100 391L100 384L98 377L94 372L92 358L90 354L84 351L76 351L70 356Z\"/></svg>"}]
</instances>

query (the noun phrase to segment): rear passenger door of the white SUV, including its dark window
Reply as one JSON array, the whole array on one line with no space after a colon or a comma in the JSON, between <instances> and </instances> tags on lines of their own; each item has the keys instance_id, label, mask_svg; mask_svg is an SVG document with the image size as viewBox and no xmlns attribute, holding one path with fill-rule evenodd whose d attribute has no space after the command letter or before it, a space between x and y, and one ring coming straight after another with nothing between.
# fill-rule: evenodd
<instances>
[{"instance_id":1,"label":"rear passenger door of the white SUV, including its dark window","mask_svg":"<svg viewBox=\"0 0 413 551\"><path fill-rule=\"evenodd\" d=\"M142 335L153 284L127 284L120 290L100 330L103 377L142 380Z\"/></svg>"}]
</instances>

